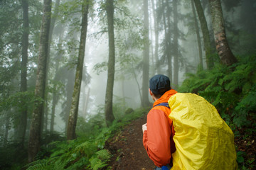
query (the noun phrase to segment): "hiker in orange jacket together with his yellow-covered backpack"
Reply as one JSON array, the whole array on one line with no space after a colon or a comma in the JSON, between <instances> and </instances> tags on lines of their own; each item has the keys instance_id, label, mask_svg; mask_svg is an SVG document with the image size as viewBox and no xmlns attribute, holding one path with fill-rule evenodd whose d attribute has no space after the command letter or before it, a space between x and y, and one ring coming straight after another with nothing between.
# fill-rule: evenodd
<instances>
[{"instance_id":1,"label":"hiker in orange jacket together with his yellow-covered backpack","mask_svg":"<svg viewBox=\"0 0 256 170\"><path fill-rule=\"evenodd\" d=\"M177 93L170 80L149 80L154 105L142 125L143 145L160 169L237 169L234 135L218 111L196 94Z\"/></svg>"}]
</instances>

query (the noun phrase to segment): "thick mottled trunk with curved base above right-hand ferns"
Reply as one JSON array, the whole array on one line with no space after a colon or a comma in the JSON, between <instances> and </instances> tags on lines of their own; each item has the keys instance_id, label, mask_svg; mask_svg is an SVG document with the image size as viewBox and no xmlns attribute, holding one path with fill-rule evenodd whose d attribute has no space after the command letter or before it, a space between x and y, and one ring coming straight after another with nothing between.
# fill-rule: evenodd
<instances>
[{"instance_id":1,"label":"thick mottled trunk with curved base above right-hand ferns","mask_svg":"<svg viewBox=\"0 0 256 170\"><path fill-rule=\"evenodd\" d=\"M220 61L223 64L230 66L237 62L237 60L228 46L220 0L209 0L209 3L216 49L220 56Z\"/></svg>"}]
</instances>

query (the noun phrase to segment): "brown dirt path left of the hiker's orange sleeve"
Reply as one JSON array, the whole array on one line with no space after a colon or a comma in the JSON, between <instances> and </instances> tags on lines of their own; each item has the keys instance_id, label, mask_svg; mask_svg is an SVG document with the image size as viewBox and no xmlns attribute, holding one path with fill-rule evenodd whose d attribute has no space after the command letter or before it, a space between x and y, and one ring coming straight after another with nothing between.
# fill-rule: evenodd
<instances>
[{"instance_id":1,"label":"brown dirt path left of the hiker's orange sleeve","mask_svg":"<svg viewBox=\"0 0 256 170\"><path fill-rule=\"evenodd\" d=\"M110 162L116 170L153 170L154 163L149 159L142 144L142 125L146 123L146 114L133 120L107 144L115 152Z\"/></svg>"}]
</instances>

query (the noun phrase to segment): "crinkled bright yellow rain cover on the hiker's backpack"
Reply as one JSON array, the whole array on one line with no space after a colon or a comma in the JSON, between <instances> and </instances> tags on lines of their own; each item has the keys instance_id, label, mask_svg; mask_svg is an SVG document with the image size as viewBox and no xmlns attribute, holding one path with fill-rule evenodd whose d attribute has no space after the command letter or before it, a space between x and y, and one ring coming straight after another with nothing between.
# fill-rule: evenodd
<instances>
[{"instance_id":1,"label":"crinkled bright yellow rain cover on the hiker's backpack","mask_svg":"<svg viewBox=\"0 0 256 170\"><path fill-rule=\"evenodd\" d=\"M238 169L234 135L216 108L196 94L169 98L176 152L171 170Z\"/></svg>"}]
</instances>

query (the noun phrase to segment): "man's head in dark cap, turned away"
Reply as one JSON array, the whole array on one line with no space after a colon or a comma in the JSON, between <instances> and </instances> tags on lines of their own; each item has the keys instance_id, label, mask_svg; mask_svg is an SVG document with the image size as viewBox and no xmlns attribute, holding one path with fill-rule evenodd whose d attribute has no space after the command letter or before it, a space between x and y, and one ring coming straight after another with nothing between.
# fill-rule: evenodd
<instances>
[{"instance_id":1,"label":"man's head in dark cap, turned away","mask_svg":"<svg viewBox=\"0 0 256 170\"><path fill-rule=\"evenodd\" d=\"M154 101L161 98L166 91L171 90L169 77L157 74L149 80L149 94Z\"/></svg>"}]
</instances>

